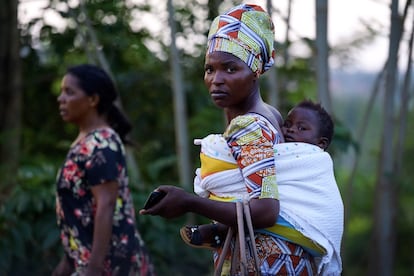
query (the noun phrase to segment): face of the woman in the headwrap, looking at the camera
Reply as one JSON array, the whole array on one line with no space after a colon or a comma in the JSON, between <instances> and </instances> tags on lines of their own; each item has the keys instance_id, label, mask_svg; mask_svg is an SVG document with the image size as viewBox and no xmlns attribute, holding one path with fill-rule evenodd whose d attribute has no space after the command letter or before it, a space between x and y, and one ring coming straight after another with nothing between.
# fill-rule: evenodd
<instances>
[{"instance_id":1,"label":"face of the woman in the headwrap, looking at the camera","mask_svg":"<svg viewBox=\"0 0 414 276\"><path fill-rule=\"evenodd\" d=\"M257 77L242 60L226 52L206 56L204 83L220 108L243 108L255 89Z\"/></svg>"}]
</instances>

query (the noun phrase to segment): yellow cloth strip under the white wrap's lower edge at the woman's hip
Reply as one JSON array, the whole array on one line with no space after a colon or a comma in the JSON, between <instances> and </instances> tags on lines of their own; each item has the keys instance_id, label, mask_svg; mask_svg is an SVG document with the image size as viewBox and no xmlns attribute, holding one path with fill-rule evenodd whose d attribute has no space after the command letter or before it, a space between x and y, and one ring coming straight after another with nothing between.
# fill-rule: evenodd
<instances>
[{"instance_id":1,"label":"yellow cloth strip under the white wrap's lower edge at the woman's hip","mask_svg":"<svg viewBox=\"0 0 414 276\"><path fill-rule=\"evenodd\" d=\"M286 226L276 224L276 225L273 225L272 227L265 228L265 230L275 233L277 235L280 235L282 237L285 237L288 240L296 244L299 244L300 246L303 246L305 248L309 248L320 255L326 254L325 248L323 248L316 242L312 241L311 239L305 237L302 233L300 233L299 231L293 228L289 228Z\"/></svg>"}]
</instances>

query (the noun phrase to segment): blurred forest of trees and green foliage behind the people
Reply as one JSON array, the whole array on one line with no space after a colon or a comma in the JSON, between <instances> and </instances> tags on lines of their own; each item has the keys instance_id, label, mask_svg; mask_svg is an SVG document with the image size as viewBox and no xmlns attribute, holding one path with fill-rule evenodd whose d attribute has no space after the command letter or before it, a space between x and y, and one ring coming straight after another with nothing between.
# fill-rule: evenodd
<instances>
[{"instance_id":1,"label":"blurred forest of trees and green foliage behind the people","mask_svg":"<svg viewBox=\"0 0 414 276\"><path fill-rule=\"evenodd\" d=\"M18 7L29 1L36 0L6 0L0 8L0 275L49 275L62 254L55 176L76 129L61 121L56 97L69 65L98 64L116 81L134 125L128 162L136 209L160 184L192 191L199 165L193 139L225 127L203 84L206 34L212 18L240 3L49 0L22 23ZM283 41L276 34L278 58L262 78L262 93L282 114L310 98L335 117L330 153L346 210L343 275L414 275L414 6L383 1L386 28L367 22L366 32L334 46L327 43L328 0L314 1L316 37L299 39L289 36L295 10L288 2L287 11L266 2L287 28ZM162 35L151 32L154 24ZM329 60L346 66L378 36L389 39L378 72L330 69ZM298 44L301 55L292 51ZM408 57L399 58L401 47ZM137 216L159 275L211 275L211 253L186 246L178 233L202 222L191 214Z\"/></svg>"}]
</instances>

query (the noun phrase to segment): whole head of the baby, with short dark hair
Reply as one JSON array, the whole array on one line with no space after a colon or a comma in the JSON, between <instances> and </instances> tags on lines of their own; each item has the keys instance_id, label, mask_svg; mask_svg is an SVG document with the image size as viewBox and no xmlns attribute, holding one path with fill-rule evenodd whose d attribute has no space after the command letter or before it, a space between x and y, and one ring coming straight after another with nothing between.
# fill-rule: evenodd
<instances>
[{"instance_id":1,"label":"whole head of the baby, with short dark hair","mask_svg":"<svg viewBox=\"0 0 414 276\"><path fill-rule=\"evenodd\" d=\"M329 113L319 104L305 100L292 108L283 123L286 142L304 142L326 150L334 132Z\"/></svg>"}]
</instances>

